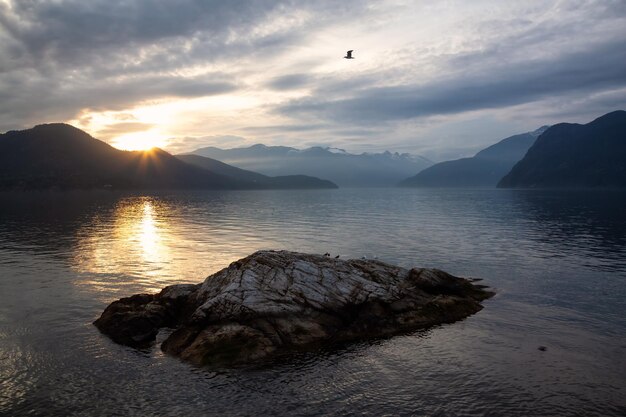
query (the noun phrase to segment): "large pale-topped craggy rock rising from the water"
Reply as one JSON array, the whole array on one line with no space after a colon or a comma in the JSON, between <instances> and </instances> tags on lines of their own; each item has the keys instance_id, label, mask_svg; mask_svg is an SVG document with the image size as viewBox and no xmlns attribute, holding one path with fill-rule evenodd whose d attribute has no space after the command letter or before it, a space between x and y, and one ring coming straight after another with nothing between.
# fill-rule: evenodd
<instances>
[{"instance_id":1,"label":"large pale-topped craggy rock rising from the water","mask_svg":"<svg viewBox=\"0 0 626 417\"><path fill-rule=\"evenodd\" d=\"M113 341L153 342L198 365L238 364L319 343L390 336L463 319L493 295L437 269L259 251L198 285L113 302L94 324Z\"/></svg>"}]
</instances>

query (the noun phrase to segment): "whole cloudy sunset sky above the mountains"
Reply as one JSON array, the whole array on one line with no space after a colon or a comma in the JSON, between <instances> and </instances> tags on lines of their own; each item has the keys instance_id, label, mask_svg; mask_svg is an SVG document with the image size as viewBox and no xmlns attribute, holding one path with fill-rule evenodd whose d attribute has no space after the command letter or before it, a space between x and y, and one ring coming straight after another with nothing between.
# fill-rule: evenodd
<instances>
[{"instance_id":1,"label":"whole cloudy sunset sky above the mountains","mask_svg":"<svg viewBox=\"0 0 626 417\"><path fill-rule=\"evenodd\" d=\"M441 161L617 109L624 0L0 0L2 132Z\"/></svg>"}]
</instances>

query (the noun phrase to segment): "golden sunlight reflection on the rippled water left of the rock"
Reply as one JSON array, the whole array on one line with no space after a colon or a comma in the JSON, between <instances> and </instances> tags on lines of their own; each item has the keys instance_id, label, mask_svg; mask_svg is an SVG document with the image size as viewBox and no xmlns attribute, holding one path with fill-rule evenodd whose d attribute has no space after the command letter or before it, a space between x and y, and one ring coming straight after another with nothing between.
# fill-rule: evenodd
<instances>
[{"instance_id":1,"label":"golden sunlight reflection on the rippled water left of the rock","mask_svg":"<svg viewBox=\"0 0 626 417\"><path fill-rule=\"evenodd\" d=\"M217 227L210 218L203 225L185 224L177 210L158 197L128 197L94 216L78 231L80 250L74 252L72 268L84 279L77 284L100 291L116 288L121 295L129 289L157 292L171 284L201 282L263 244L253 238L219 244L224 239L212 241L206 230L228 230L228 224Z\"/></svg>"}]
</instances>

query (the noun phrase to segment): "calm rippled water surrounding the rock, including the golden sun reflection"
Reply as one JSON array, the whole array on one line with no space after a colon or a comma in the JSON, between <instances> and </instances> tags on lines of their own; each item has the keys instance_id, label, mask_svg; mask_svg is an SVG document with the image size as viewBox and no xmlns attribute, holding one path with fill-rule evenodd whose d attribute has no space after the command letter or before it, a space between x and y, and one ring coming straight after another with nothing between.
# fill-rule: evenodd
<instances>
[{"instance_id":1,"label":"calm rippled water surrounding the rock, including the golden sun reflection","mask_svg":"<svg viewBox=\"0 0 626 417\"><path fill-rule=\"evenodd\" d=\"M498 294L452 325L220 372L91 325L262 248L437 267ZM0 414L624 416L626 193L0 194Z\"/></svg>"}]
</instances>

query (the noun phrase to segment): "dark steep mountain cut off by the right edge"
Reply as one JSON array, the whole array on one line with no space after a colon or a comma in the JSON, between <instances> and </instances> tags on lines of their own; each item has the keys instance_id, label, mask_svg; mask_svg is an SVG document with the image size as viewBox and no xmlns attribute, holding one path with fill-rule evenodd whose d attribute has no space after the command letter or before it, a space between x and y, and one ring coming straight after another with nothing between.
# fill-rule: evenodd
<instances>
[{"instance_id":1,"label":"dark steep mountain cut off by the right edge","mask_svg":"<svg viewBox=\"0 0 626 417\"><path fill-rule=\"evenodd\" d=\"M626 111L552 126L498 187L626 187Z\"/></svg>"}]
</instances>

